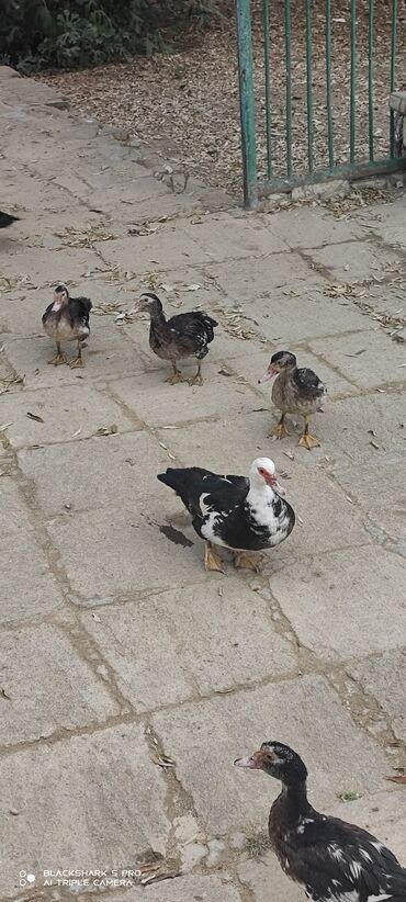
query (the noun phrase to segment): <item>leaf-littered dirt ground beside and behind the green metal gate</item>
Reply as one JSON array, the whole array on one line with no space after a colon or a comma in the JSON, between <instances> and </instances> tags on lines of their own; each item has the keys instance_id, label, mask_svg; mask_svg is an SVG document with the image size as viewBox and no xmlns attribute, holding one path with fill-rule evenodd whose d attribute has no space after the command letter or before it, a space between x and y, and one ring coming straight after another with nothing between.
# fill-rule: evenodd
<instances>
[{"instance_id":1,"label":"leaf-littered dirt ground beside and behind the green metal gate","mask_svg":"<svg viewBox=\"0 0 406 902\"><path fill-rule=\"evenodd\" d=\"M368 158L368 25L369 3L358 5L357 154ZM256 59L256 104L259 174L266 173L264 59L262 3L252 4ZM275 174L285 172L284 3L270 12L272 69L272 156ZM374 10L375 158L388 153L388 93L392 5ZM304 3L292 3L293 159L306 168L306 41ZM332 4L332 100L335 161L349 151L350 4ZM405 19L398 16L396 87L404 81ZM241 184L238 74L234 20L191 38L190 49L136 58L80 72L42 74L61 91L74 111L119 125L131 135L163 142L169 155L206 184L239 193ZM313 7L313 95L315 165L327 164L325 7Z\"/></svg>"}]
</instances>

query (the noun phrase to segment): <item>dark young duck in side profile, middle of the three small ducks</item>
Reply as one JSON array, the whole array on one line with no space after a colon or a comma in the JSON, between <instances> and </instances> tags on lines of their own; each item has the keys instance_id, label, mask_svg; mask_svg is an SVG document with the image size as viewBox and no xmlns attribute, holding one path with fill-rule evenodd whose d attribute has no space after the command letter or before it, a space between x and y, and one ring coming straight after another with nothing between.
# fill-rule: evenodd
<instances>
[{"instance_id":1,"label":"dark young duck in side profile, middle of the three small ducks","mask_svg":"<svg viewBox=\"0 0 406 902\"><path fill-rule=\"evenodd\" d=\"M208 345L213 341L214 329L218 325L204 311L179 313L166 318L159 297L153 292L145 292L139 297L132 313L148 313L150 317L149 347L161 358L170 360L173 373L166 382L174 385L183 382L183 376L177 367L177 360L195 357L198 372L189 380L189 385L203 385L202 360L208 353Z\"/></svg>"}]
</instances>

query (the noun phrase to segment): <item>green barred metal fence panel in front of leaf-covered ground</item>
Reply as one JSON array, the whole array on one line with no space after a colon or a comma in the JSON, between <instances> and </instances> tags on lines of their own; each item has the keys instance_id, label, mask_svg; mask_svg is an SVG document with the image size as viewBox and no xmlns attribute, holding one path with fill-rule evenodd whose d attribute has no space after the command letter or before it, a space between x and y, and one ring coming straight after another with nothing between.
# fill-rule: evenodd
<instances>
[{"instance_id":1,"label":"green barred metal fence panel in front of leaf-covered ground","mask_svg":"<svg viewBox=\"0 0 406 902\"><path fill-rule=\"evenodd\" d=\"M387 23L387 76L385 75L384 97L385 97L385 138L386 148L382 148L382 139L376 153L376 140L374 134L375 121L375 5L384 0L365 0L363 4L364 44L362 47L362 67L365 72L365 83L360 100L358 93L358 70L360 65L360 48L358 44L358 3L359 0L349 0L346 27L348 29L349 47L349 83L348 83L348 145L345 158L337 157L335 140L335 88L332 83L331 59L334 55L334 36L331 33L331 22L345 22L345 19L335 19L335 0L314 0L317 7L318 24L320 14L323 15L323 121L325 129L325 158L322 162L315 158L315 112L314 112L314 13L313 0L284 0L283 4L283 37L279 34L279 42L283 44L283 60L279 60L277 67L272 58L274 50L272 23L274 15L275 0L262 0L261 5L255 3L256 11L256 34L258 34L258 16L260 16L260 34L263 47L263 58L261 66L261 103L258 100L258 86L256 80L258 68L258 54L252 52L252 15L251 0L236 0L237 10L237 37L238 37L238 65L239 65L239 91L240 91L240 117L241 117L241 149L244 168L244 193L247 206L255 206L258 198L272 193L273 191L289 191L296 185L327 181L337 178L362 178L373 173L391 172L404 168L405 160L396 157L394 115L388 109L391 92L395 89L396 72L396 43L398 8L397 0L392 0L392 8ZM391 2L391 0L390 0ZM297 3L297 5L296 5ZM297 42L293 45L292 38L292 15L296 23L297 10L301 12L301 26L303 26L303 43L297 50ZM386 7L387 9L387 7ZM281 12L281 7L279 5ZM342 12L342 4L340 7ZM366 20L365 20L366 16ZM365 21L364 21L365 20ZM382 37L382 35L381 35ZM387 40L386 40L387 38ZM257 49L257 48L256 48ZM279 53L281 47L278 48ZM382 42L380 43L382 55ZM304 104L306 116L305 134L300 134L300 138L294 134L295 117L295 95L293 93L294 65L297 60L297 53L304 57L302 63L305 72ZM294 55L294 58L293 58ZM366 59L368 57L368 59ZM381 60L380 60L381 61ZM282 66L281 66L282 63ZM320 52L318 47L317 68L320 71ZM368 72L366 72L368 65ZM335 78L340 79L340 59L335 58ZM281 87L281 79L284 81L283 103L279 102L278 121L274 117L274 86L278 82ZM404 80L404 78L402 79ZM262 97L263 93L263 97ZM365 108L366 134L360 137L357 134L358 104ZM260 111L258 112L258 108ZM281 106L283 123L281 123ZM263 121L264 120L264 121ZM261 158L261 167L258 165L258 128L259 123L262 128L264 150ZM275 137L280 140L281 132L284 133L283 165L275 159L274 146ZM297 165L295 149L297 140L306 144L306 159ZM362 142L360 153L360 140ZM384 153L382 153L382 149Z\"/></svg>"}]
</instances>

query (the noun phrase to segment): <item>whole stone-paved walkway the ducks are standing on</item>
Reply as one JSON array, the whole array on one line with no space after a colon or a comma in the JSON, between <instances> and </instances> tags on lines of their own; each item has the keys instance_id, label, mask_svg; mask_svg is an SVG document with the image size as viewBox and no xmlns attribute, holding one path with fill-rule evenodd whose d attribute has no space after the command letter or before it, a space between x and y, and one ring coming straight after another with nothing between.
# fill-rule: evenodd
<instances>
[{"instance_id":1,"label":"whole stone-paved walkway the ducks are standing on","mask_svg":"<svg viewBox=\"0 0 406 902\"><path fill-rule=\"evenodd\" d=\"M2 902L298 902L267 849L277 786L233 768L266 738L406 865L385 780L406 767L405 195L246 215L172 191L45 86L0 83L0 206L21 216L0 233ZM47 365L58 280L94 305L80 372ZM120 318L142 286L218 319L203 387L165 383L146 322ZM282 348L328 386L312 452L298 424L267 438ZM260 574L206 574L156 474L259 454L297 525ZM119 882L44 877L64 868Z\"/></svg>"}]
</instances>

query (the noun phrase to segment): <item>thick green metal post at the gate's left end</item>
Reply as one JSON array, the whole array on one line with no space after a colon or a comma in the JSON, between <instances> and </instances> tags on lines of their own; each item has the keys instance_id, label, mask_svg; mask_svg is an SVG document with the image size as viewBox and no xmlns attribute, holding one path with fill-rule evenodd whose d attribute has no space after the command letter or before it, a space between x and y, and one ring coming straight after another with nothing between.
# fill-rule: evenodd
<instances>
[{"instance_id":1,"label":"thick green metal post at the gate's left end","mask_svg":"<svg viewBox=\"0 0 406 902\"><path fill-rule=\"evenodd\" d=\"M250 0L236 0L236 13L244 202L252 208L258 200L258 182Z\"/></svg>"}]
</instances>

